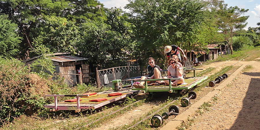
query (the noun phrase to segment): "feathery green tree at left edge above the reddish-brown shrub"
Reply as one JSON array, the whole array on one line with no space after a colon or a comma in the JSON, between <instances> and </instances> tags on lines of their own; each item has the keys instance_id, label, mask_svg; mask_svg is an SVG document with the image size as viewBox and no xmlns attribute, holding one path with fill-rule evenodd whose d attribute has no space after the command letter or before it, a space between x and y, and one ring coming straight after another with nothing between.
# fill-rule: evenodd
<instances>
[{"instance_id":1,"label":"feathery green tree at left edge above the reddish-brown shrub","mask_svg":"<svg viewBox=\"0 0 260 130\"><path fill-rule=\"evenodd\" d=\"M0 14L0 56L10 58L19 52L21 37L16 30L17 24L12 23L7 15Z\"/></svg>"}]
</instances>

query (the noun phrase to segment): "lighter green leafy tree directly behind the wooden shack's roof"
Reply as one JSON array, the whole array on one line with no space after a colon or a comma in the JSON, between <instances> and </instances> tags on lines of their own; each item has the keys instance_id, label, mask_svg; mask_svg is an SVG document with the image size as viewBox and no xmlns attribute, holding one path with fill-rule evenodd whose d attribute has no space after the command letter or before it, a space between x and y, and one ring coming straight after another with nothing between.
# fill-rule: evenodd
<instances>
[{"instance_id":1,"label":"lighter green leafy tree directly behind the wooden shack's roof","mask_svg":"<svg viewBox=\"0 0 260 130\"><path fill-rule=\"evenodd\" d=\"M33 46L45 45L52 52L70 52L78 54L77 44L80 38L79 27L75 22L66 18L46 16L37 29L32 29L36 34Z\"/></svg>"}]
</instances>

